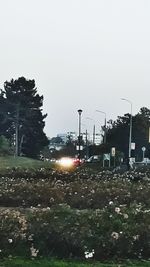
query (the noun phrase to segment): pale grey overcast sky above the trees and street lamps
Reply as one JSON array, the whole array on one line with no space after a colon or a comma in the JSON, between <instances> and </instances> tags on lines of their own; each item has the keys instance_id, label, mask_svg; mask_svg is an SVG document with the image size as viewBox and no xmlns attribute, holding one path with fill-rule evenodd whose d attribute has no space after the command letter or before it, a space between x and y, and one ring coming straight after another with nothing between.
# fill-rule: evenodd
<instances>
[{"instance_id":1,"label":"pale grey overcast sky above the trees and street lamps","mask_svg":"<svg viewBox=\"0 0 150 267\"><path fill-rule=\"evenodd\" d=\"M45 132L97 130L107 119L150 108L149 0L0 0L0 87L35 79Z\"/></svg>"}]
</instances>

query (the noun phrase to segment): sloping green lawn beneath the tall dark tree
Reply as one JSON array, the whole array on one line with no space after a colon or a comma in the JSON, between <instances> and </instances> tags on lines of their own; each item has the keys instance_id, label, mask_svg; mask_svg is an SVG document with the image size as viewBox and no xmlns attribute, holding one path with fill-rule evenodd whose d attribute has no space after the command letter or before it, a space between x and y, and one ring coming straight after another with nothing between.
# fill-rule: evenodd
<instances>
[{"instance_id":1,"label":"sloping green lawn beneath the tall dark tree","mask_svg":"<svg viewBox=\"0 0 150 267\"><path fill-rule=\"evenodd\" d=\"M7 168L39 168L39 167L51 167L50 162L41 160L30 159L26 157L14 157L4 156L0 157L0 170L6 170Z\"/></svg>"}]
</instances>

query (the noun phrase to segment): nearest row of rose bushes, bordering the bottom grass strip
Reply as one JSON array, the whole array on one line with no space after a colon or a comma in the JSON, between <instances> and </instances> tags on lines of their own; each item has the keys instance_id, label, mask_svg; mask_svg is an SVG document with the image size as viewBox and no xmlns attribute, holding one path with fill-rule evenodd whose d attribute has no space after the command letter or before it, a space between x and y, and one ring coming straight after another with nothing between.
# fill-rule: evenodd
<instances>
[{"instance_id":1,"label":"nearest row of rose bushes, bordering the bottom grass strip","mask_svg":"<svg viewBox=\"0 0 150 267\"><path fill-rule=\"evenodd\" d=\"M127 215L127 216L125 216ZM95 259L148 258L150 211L111 205L103 210L1 210L2 256L60 256ZM92 253L92 254L91 254Z\"/></svg>"}]
</instances>

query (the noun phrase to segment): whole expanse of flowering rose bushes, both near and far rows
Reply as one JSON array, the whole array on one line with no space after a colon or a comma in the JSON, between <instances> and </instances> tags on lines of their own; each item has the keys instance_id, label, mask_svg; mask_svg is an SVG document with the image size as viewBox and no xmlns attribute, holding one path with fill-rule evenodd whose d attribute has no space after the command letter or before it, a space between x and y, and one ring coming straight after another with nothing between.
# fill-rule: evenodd
<instances>
[{"instance_id":1,"label":"whole expanse of flowering rose bushes, both near and far rows","mask_svg":"<svg viewBox=\"0 0 150 267\"><path fill-rule=\"evenodd\" d=\"M0 178L0 255L150 255L150 173L8 170Z\"/></svg>"}]
</instances>

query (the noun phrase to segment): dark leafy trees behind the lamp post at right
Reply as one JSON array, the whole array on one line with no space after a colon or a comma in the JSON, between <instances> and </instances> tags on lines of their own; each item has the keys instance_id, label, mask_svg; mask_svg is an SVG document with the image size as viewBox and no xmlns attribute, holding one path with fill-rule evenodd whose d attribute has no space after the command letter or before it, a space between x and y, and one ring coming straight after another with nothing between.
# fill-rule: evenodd
<instances>
[{"instance_id":1,"label":"dark leafy trees behind the lamp post at right","mask_svg":"<svg viewBox=\"0 0 150 267\"><path fill-rule=\"evenodd\" d=\"M128 155L129 143L129 125L130 114L118 116L116 121L110 121L107 131L107 143L109 147L116 147L118 151L122 151L125 156ZM137 161L142 159L142 147L145 146L149 151L149 127L150 127L150 110L146 107L140 109L139 113L132 117L132 142L135 142L135 156ZM149 154L147 153L149 156Z\"/></svg>"}]
</instances>

